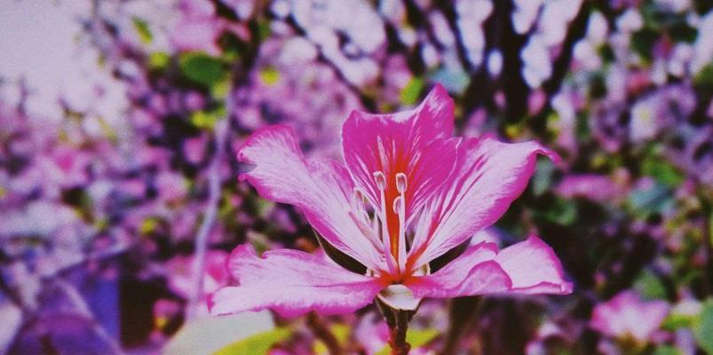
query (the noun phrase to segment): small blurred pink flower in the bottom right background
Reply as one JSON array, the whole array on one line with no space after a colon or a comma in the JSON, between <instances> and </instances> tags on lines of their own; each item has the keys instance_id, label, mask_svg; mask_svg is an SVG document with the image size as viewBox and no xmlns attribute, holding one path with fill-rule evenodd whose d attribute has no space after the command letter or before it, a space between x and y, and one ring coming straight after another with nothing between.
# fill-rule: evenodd
<instances>
[{"instance_id":1,"label":"small blurred pink flower in the bottom right background","mask_svg":"<svg viewBox=\"0 0 713 355\"><path fill-rule=\"evenodd\" d=\"M619 337L633 337L645 343L669 314L664 301L642 301L634 291L623 291L604 304L598 304L591 316L591 327L598 332Z\"/></svg>"}]
</instances>

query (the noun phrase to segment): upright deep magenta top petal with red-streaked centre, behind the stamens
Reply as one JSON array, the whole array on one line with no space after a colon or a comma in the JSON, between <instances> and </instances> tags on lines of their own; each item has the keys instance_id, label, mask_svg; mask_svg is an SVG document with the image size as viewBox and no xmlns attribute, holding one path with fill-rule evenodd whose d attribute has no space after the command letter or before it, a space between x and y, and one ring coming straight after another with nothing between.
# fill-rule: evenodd
<instances>
[{"instance_id":1,"label":"upright deep magenta top petal with red-streaked centre, behind the stamens","mask_svg":"<svg viewBox=\"0 0 713 355\"><path fill-rule=\"evenodd\" d=\"M375 171L386 177L388 210L398 196L396 174L406 174L407 219L448 178L456 142L444 138L453 135L454 107L448 92L436 85L414 110L395 114L353 111L349 115L342 126L346 166L374 206L381 200Z\"/></svg>"}]
</instances>

